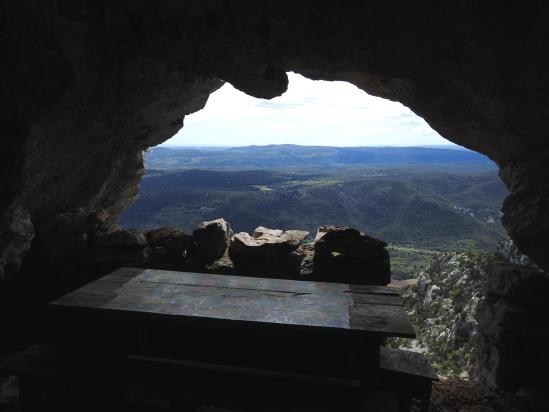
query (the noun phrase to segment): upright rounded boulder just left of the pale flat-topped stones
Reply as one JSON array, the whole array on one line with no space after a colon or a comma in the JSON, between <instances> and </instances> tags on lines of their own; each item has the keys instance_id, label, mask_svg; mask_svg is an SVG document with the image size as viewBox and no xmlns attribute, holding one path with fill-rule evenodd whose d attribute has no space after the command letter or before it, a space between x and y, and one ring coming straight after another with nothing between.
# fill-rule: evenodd
<instances>
[{"instance_id":1,"label":"upright rounded boulder just left of the pale flat-topped stones","mask_svg":"<svg viewBox=\"0 0 549 412\"><path fill-rule=\"evenodd\" d=\"M225 219L202 222L193 231L194 258L203 264L220 259L229 245L231 226Z\"/></svg>"}]
</instances>

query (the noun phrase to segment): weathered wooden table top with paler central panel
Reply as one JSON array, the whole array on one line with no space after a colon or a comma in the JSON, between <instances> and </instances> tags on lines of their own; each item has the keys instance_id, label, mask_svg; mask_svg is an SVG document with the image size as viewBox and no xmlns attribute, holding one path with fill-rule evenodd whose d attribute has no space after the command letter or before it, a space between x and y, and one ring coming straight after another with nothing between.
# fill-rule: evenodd
<instances>
[{"instance_id":1,"label":"weathered wooden table top with paler central panel","mask_svg":"<svg viewBox=\"0 0 549 412\"><path fill-rule=\"evenodd\" d=\"M120 268L51 305L415 337L383 286Z\"/></svg>"}]
</instances>

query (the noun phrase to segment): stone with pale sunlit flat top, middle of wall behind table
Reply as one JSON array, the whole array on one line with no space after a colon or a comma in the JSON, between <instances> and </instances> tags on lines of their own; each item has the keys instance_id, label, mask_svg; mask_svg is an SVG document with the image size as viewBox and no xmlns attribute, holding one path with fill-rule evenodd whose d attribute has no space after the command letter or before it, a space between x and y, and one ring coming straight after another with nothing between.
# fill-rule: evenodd
<instances>
[{"instance_id":1,"label":"stone with pale sunlit flat top, middle of wall behind table","mask_svg":"<svg viewBox=\"0 0 549 412\"><path fill-rule=\"evenodd\" d=\"M296 278L303 255L298 247L309 235L301 230L277 230L263 226L250 236L246 232L231 238L229 256L236 273L254 276Z\"/></svg>"}]
</instances>

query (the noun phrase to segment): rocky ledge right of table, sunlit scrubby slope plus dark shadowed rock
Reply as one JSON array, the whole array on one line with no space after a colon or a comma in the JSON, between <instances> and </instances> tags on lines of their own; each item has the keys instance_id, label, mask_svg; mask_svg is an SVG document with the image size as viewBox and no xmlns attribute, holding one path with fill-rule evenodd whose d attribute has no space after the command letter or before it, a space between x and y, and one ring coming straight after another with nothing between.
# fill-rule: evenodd
<instances>
[{"instance_id":1,"label":"rocky ledge right of table, sunlit scrubby slope plus dark shadowed rock","mask_svg":"<svg viewBox=\"0 0 549 412\"><path fill-rule=\"evenodd\" d=\"M449 253L403 288L417 340L392 345L421 351L437 372L470 375L548 410L549 275L512 242L498 253Z\"/></svg>"}]
</instances>

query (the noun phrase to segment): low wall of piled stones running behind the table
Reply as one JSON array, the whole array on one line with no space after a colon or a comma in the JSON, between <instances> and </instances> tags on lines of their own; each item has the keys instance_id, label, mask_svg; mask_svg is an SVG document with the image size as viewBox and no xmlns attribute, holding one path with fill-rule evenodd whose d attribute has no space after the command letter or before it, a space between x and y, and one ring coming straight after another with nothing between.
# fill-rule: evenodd
<instances>
[{"instance_id":1,"label":"low wall of piled stones running behind the table","mask_svg":"<svg viewBox=\"0 0 549 412\"><path fill-rule=\"evenodd\" d=\"M202 222L192 234L178 228L104 230L97 223L79 220L77 213L58 220L82 221L39 227L24 266L30 276L40 272L41 280L52 288L60 281L74 285L120 266L376 285L390 282L387 244L349 227L323 226L311 239L306 231L262 226L251 235L235 234L221 218Z\"/></svg>"}]
</instances>

